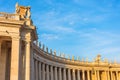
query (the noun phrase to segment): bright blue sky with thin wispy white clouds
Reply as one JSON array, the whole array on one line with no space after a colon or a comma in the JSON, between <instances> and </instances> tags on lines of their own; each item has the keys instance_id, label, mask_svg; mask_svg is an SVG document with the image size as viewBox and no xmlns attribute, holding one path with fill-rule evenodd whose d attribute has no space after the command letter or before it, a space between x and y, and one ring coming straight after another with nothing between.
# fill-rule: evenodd
<instances>
[{"instance_id":1,"label":"bright blue sky with thin wispy white clouds","mask_svg":"<svg viewBox=\"0 0 120 80\"><path fill-rule=\"evenodd\" d=\"M39 41L58 53L120 62L120 0L1 0L0 11L15 3L31 6Z\"/></svg>"}]
</instances>

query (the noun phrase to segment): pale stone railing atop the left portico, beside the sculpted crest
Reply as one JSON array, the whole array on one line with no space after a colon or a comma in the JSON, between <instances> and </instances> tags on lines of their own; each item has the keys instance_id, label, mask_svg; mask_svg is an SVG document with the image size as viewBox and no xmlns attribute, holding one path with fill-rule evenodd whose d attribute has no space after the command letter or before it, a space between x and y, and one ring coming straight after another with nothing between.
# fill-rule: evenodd
<instances>
[{"instance_id":1,"label":"pale stone railing atop the left portico, beside the sculpted crest","mask_svg":"<svg viewBox=\"0 0 120 80\"><path fill-rule=\"evenodd\" d=\"M0 18L2 19L12 19L12 20L19 20L20 17L17 14L8 14L4 12L0 12Z\"/></svg>"}]
</instances>

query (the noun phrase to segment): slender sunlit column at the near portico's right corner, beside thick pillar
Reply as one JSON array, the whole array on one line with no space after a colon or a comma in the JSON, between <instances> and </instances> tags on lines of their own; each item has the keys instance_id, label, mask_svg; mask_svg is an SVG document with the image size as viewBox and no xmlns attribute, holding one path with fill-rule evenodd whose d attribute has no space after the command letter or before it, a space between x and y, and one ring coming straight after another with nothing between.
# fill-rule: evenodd
<instances>
[{"instance_id":1,"label":"slender sunlit column at the near portico's right corner, beside thick pillar","mask_svg":"<svg viewBox=\"0 0 120 80\"><path fill-rule=\"evenodd\" d=\"M25 80L33 79L33 49L31 47L30 37L26 38L25 52Z\"/></svg>"}]
</instances>

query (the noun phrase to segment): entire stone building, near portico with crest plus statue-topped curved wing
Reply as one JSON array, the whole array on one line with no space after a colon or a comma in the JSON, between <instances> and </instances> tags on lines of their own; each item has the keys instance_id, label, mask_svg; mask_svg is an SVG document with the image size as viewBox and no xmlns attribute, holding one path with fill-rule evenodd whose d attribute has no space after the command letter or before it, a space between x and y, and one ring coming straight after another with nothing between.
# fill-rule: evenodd
<instances>
[{"instance_id":1,"label":"entire stone building, near portico with crest plus statue-topped curved wing","mask_svg":"<svg viewBox=\"0 0 120 80\"><path fill-rule=\"evenodd\" d=\"M120 64L56 55L37 40L30 7L0 12L0 80L120 80Z\"/></svg>"}]
</instances>

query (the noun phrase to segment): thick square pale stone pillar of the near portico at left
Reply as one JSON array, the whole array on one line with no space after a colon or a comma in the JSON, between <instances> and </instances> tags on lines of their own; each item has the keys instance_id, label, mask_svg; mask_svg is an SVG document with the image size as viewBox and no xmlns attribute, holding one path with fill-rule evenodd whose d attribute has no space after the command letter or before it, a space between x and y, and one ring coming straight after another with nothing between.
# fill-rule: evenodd
<instances>
[{"instance_id":1,"label":"thick square pale stone pillar of the near portico at left","mask_svg":"<svg viewBox=\"0 0 120 80\"><path fill-rule=\"evenodd\" d=\"M17 37L12 37L10 80L21 80L21 76L19 75L21 72L19 67L21 64L19 61L21 54L20 51L20 39Z\"/></svg>"}]
</instances>

